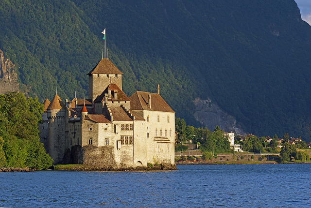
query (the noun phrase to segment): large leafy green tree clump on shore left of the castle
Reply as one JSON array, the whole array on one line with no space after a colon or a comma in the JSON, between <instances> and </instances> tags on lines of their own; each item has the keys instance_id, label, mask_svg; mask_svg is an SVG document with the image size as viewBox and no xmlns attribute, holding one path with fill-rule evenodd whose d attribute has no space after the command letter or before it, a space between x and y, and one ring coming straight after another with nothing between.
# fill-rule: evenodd
<instances>
[{"instance_id":1,"label":"large leafy green tree clump on shore left of the castle","mask_svg":"<svg viewBox=\"0 0 311 208\"><path fill-rule=\"evenodd\" d=\"M0 166L43 169L52 158L39 141L43 104L18 92L0 94Z\"/></svg>"}]
</instances>

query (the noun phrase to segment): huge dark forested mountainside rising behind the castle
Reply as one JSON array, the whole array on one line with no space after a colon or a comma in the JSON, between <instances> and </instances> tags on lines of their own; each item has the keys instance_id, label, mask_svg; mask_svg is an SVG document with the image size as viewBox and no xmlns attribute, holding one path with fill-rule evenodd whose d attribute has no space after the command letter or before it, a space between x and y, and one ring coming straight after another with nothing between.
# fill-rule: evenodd
<instances>
[{"instance_id":1,"label":"huge dark forested mountainside rising behind the castle","mask_svg":"<svg viewBox=\"0 0 311 208\"><path fill-rule=\"evenodd\" d=\"M0 13L0 49L40 101L87 97L106 28L128 96L159 84L188 125L200 97L245 132L311 140L311 27L294 0L2 0Z\"/></svg>"}]
</instances>

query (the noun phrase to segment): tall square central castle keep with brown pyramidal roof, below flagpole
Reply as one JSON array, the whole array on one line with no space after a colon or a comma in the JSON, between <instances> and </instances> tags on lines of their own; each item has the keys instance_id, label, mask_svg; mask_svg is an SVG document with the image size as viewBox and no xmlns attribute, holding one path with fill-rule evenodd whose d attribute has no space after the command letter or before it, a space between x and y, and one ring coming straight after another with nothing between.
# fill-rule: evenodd
<instances>
[{"instance_id":1,"label":"tall square central castle keep with brown pyramidal roof, below flagpole","mask_svg":"<svg viewBox=\"0 0 311 208\"><path fill-rule=\"evenodd\" d=\"M88 99L93 102L109 84L116 84L122 90L122 74L109 59L101 59L88 73Z\"/></svg>"}]
</instances>

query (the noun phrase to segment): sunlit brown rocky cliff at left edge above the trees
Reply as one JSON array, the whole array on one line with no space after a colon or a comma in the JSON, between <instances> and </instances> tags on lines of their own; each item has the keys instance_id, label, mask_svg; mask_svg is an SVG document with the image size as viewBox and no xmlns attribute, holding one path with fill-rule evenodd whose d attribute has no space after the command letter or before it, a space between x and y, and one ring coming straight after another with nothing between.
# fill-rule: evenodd
<instances>
[{"instance_id":1,"label":"sunlit brown rocky cliff at left edge above the trees","mask_svg":"<svg viewBox=\"0 0 311 208\"><path fill-rule=\"evenodd\" d=\"M18 91L18 86L15 65L0 50L0 93Z\"/></svg>"}]
</instances>

